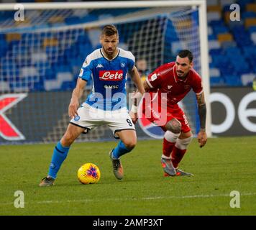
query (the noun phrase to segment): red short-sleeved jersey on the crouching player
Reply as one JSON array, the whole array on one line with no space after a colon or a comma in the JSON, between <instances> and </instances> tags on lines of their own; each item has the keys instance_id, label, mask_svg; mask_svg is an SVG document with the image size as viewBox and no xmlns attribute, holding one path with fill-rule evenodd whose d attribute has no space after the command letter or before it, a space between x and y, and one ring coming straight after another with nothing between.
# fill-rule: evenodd
<instances>
[{"instance_id":1,"label":"red short-sleeved jersey on the crouching player","mask_svg":"<svg viewBox=\"0 0 256 230\"><path fill-rule=\"evenodd\" d=\"M189 70L184 80L180 80L176 74L175 62L161 65L146 79L150 86L150 92L157 92L158 101L166 99L167 107L173 108L186 94L193 89L196 94L203 92L201 77L196 70ZM161 93L166 93L162 94ZM166 97L165 97L166 95ZM155 100L154 100L155 101Z\"/></svg>"}]
</instances>

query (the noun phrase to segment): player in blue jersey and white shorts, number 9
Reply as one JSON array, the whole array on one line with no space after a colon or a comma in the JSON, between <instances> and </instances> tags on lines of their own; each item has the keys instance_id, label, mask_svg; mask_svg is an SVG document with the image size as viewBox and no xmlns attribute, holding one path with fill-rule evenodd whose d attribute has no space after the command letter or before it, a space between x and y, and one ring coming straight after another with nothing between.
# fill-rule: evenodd
<instances>
[{"instance_id":1,"label":"player in blue jersey and white shorts, number 9","mask_svg":"<svg viewBox=\"0 0 256 230\"><path fill-rule=\"evenodd\" d=\"M137 87L138 95L142 96L144 87L134 65L132 52L117 47L119 34L114 25L106 25L102 29L100 42L102 47L91 52L83 63L68 106L70 124L53 150L48 175L41 180L40 186L53 185L70 145L81 133L87 133L101 124L107 124L114 137L120 139L109 152L109 157L115 177L121 180L124 176L120 157L132 151L137 143L134 128L137 111L132 109L131 116L127 112L127 73ZM91 93L79 107L78 101L90 78L93 80Z\"/></svg>"}]
</instances>

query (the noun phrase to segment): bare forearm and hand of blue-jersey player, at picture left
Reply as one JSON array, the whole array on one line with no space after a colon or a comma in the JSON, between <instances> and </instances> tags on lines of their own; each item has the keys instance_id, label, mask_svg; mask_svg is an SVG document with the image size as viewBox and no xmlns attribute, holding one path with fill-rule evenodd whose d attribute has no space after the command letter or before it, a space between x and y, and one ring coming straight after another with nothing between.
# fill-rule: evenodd
<instances>
[{"instance_id":1,"label":"bare forearm and hand of blue-jersey player, at picture left","mask_svg":"<svg viewBox=\"0 0 256 230\"><path fill-rule=\"evenodd\" d=\"M70 104L68 106L68 116L70 116L70 118L78 115L79 100L83 95L83 90L86 86L86 83L86 80L83 80L82 78L78 78L76 82L76 88L73 90Z\"/></svg>"}]
</instances>

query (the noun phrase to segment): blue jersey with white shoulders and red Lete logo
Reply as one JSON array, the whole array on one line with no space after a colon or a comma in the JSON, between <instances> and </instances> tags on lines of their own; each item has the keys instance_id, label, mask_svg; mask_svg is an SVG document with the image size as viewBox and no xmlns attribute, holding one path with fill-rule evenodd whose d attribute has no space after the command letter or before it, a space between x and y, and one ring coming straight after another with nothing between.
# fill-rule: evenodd
<instances>
[{"instance_id":1,"label":"blue jersey with white shoulders and red Lete logo","mask_svg":"<svg viewBox=\"0 0 256 230\"><path fill-rule=\"evenodd\" d=\"M127 106L125 83L127 73L134 68L132 52L118 48L116 57L108 60L101 49L91 52L83 63L79 78L92 78L92 90L86 99L90 106L116 110Z\"/></svg>"}]
</instances>

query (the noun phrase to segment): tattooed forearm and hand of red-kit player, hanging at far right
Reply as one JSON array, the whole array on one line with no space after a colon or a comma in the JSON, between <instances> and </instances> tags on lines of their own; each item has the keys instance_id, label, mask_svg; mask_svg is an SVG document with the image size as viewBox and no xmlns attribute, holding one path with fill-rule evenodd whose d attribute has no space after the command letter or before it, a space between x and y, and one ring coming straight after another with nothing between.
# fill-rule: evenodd
<instances>
[{"instance_id":1,"label":"tattooed forearm and hand of red-kit player, hanging at far right","mask_svg":"<svg viewBox=\"0 0 256 230\"><path fill-rule=\"evenodd\" d=\"M200 131L198 132L198 143L203 147L207 142L206 134L206 101L204 99L204 91L196 94L196 101L198 105L198 114L200 119Z\"/></svg>"}]
</instances>

